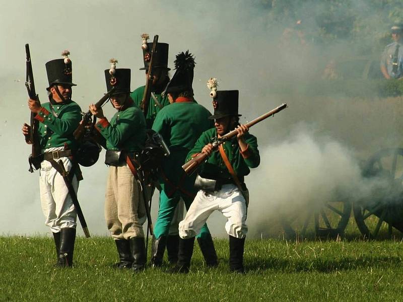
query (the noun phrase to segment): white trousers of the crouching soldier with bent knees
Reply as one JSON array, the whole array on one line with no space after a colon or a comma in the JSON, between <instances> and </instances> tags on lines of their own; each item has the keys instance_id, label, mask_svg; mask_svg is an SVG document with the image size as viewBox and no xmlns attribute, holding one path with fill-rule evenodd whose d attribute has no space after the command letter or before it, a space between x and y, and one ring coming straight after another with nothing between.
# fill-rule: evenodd
<instances>
[{"instance_id":1,"label":"white trousers of the crouching soldier with bent knees","mask_svg":"<svg viewBox=\"0 0 403 302\"><path fill-rule=\"evenodd\" d=\"M196 236L215 210L228 218L225 223L228 235L236 238L246 236L246 202L241 191L233 184L223 185L220 191L213 193L198 191L185 219L179 222L179 236L183 239Z\"/></svg>"}]
</instances>

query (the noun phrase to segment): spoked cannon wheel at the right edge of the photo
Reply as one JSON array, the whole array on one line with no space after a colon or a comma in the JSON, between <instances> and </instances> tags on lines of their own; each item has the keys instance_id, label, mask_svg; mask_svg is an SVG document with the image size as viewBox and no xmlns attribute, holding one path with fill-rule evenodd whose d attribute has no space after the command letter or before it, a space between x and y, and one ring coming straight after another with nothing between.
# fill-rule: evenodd
<instances>
[{"instance_id":1,"label":"spoked cannon wheel at the right edge of the photo","mask_svg":"<svg viewBox=\"0 0 403 302\"><path fill-rule=\"evenodd\" d=\"M403 148L386 148L377 152L368 160L364 169L364 176L382 178L389 189L396 186L401 188ZM372 200L361 200L353 203L353 212L358 229L366 238L379 238L386 232L387 237L391 238L393 233L403 232L403 222L399 221L402 219L395 219L398 209L396 205L401 204L403 195L398 193L390 197L391 194L387 194L388 192L386 190L384 196L374 197Z\"/></svg>"}]
</instances>

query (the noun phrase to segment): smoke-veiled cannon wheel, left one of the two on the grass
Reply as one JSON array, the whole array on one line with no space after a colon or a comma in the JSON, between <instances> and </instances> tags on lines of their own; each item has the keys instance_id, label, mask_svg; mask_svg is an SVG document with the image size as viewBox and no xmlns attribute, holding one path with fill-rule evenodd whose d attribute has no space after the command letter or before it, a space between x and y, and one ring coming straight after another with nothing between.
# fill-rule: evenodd
<instances>
[{"instance_id":1,"label":"smoke-veiled cannon wheel, left one of the two on the grass","mask_svg":"<svg viewBox=\"0 0 403 302\"><path fill-rule=\"evenodd\" d=\"M350 219L350 201L330 201L312 210L297 211L283 217L282 225L289 239L337 238L343 236Z\"/></svg>"}]
</instances>

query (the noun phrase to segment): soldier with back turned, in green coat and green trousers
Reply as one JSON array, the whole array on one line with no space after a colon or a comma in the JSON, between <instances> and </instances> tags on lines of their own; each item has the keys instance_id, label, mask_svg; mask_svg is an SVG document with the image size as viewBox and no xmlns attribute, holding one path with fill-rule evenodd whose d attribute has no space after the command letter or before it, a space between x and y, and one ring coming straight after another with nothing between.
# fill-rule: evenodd
<instances>
[{"instance_id":1,"label":"soldier with back turned, in green coat and green trousers","mask_svg":"<svg viewBox=\"0 0 403 302\"><path fill-rule=\"evenodd\" d=\"M165 89L172 104L158 113L153 124L153 130L162 135L171 151L161 169L160 208L154 228L151 257L155 266L162 265L169 226L180 198L189 208L196 193L193 188L194 178L187 177L181 165L197 137L212 126L210 112L193 100L192 55L188 51L178 54L175 68L175 74ZM207 265L217 266L217 254L206 224L200 231L198 242Z\"/></svg>"}]
</instances>

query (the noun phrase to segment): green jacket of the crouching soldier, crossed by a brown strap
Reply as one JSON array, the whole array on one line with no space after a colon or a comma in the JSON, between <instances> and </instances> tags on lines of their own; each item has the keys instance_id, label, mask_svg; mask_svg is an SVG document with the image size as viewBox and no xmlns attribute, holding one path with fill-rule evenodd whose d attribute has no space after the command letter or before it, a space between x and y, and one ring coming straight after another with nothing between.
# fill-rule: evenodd
<instances>
[{"instance_id":1,"label":"green jacket of the crouching soldier, crossed by a brown strap","mask_svg":"<svg viewBox=\"0 0 403 302\"><path fill-rule=\"evenodd\" d=\"M209 142L213 142L214 137L217 137L216 128L203 132L199 139L197 139L194 147L188 153L186 161L189 161L194 155L201 153L201 149L203 149L203 147ZM238 177L248 175L250 172L249 168L256 168L260 164L256 137L247 133L244 138L248 147L242 153L240 152L236 136L232 140L223 143L228 160ZM218 150L213 152L207 159L207 162L199 167L199 175L211 179L231 178L231 174L228 172Z\"/></svg>"}]
</instances>

